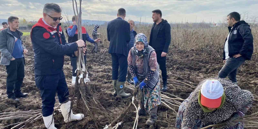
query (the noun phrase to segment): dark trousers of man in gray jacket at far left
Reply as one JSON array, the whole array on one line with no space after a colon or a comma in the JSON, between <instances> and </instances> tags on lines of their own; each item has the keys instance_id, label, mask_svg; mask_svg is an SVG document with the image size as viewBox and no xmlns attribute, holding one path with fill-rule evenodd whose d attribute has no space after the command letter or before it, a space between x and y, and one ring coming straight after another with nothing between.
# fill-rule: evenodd
<instances>
[{"instance_id":1,"label":"dark trousers of man in gray jacket at far left","mask_svg":"<svg viewBox=\"0 0 258 129\"><path fill-rule=\"evenodd\" d=\"M24 60L18 58L10 61L10 65L6 65L6 94L8 98L14 94L21 94L21 85L24 78Z\"/></svg>"}]
</instances>

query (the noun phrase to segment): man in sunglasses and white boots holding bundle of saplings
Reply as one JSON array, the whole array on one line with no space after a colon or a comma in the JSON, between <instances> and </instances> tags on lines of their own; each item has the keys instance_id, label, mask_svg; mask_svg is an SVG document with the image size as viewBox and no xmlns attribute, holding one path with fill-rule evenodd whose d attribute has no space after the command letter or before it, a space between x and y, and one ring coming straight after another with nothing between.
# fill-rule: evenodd
<instances>
[{"instance_id":1,"label":"man in sunglasses and white boots holding bundle of saplings","mask_svg":"<svg viewBox=\"0 0 258 129\"><path fill-rule=\"evenodd\" d=\"M60 20L62 9L54 3L47 3L43 9L43 18L40 18L30 33L34 51L35 83L40 89L42 99L42 116L47 129L56 129L54 126L53 111L55 94L57 92L61 113L64 121L81 120L83 114L68 115L71 101L63 71L64 55L77 55L78 47L84 47L84 41L66 43ZM85 53L84 49L84 53Z\"/></svg>"}]
</instances>

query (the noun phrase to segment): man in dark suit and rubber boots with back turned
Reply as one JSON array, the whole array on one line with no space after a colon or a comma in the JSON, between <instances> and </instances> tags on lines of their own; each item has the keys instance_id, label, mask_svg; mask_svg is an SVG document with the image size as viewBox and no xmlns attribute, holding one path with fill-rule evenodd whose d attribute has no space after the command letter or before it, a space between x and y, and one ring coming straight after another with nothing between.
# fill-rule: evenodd
<instances>
[{"instance_id":1,"label":"man in dark suit and rubber boots with back turned","mask_svg":"<svg viewBox=\"0 0 258 129\"><path fill-rule=\"evenodd\" d=\"M108 53L112 58L112 80L114 93L113 96L128 97L131 94L124 92L125 79L127 74L128 43L130 42L130 24L124 20L125 9L120 8L117 18L108 22L107 37L110 41ZM120 73L118 77L118 68Z\"/></svg>"}]
</instances>

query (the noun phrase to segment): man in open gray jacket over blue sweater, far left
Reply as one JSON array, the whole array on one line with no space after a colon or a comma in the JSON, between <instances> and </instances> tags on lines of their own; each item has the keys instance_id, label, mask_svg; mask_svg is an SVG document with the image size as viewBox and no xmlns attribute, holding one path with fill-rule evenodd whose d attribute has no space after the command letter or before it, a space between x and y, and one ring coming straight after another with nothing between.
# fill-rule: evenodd
<instances>
[{"instance_id":1,"label":"man in open gray jacket over blue sweater, far left","mask_svg":"<svg viewBox=\"0 0 258 129\"><path fill-rule=\"evenodd\" d=\"M6 94L8 98L19 101L16 98L28 95L28 93L21 93L21 85L24 78L24 54L28 50L23 46L21 40L23 33L17 30L19 28L19 18L10 16L8 24L8 29L0 32L0 65L6 65Z\"/></svg>"}]
</instances>

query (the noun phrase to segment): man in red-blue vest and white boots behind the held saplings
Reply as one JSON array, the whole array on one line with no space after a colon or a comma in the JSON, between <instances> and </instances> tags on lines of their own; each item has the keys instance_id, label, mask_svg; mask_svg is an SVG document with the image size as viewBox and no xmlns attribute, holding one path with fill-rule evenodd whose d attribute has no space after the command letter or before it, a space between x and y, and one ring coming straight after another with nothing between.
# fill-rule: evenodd
<instances>
[{"instance_id":1,"label":"man in red-blue vest and white boots behind the held saplings","mask_svg":"<svg viewBox=\"0 0 258 129\"><path fill-rule=\"evenodd\" d=\"M78 20L78 16L76 16ZM67 34L68 34L68 43L74 43L78 40L78 29L77 29L77 23L75 20L75 16L72 17L73 25L67 28ZM86 44L86 41L90 43L98 43L100 41L100 38L94 40L90 38L89 34L86 31L86 28L82 26L82 40ZM86 46L85 46L86 48ZM77 73L75 72L77 69L77 57L70 57L71 65L72 65L72 84L75 84L75 79L77 76ZM84 63L86 64L86 54L84 55ZM89 78L88 75L86 75L86 78L84 78L84 82L88 82Z\"/></svg>"}]
</instances>

